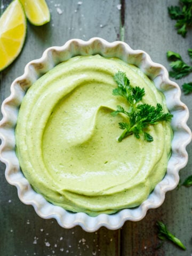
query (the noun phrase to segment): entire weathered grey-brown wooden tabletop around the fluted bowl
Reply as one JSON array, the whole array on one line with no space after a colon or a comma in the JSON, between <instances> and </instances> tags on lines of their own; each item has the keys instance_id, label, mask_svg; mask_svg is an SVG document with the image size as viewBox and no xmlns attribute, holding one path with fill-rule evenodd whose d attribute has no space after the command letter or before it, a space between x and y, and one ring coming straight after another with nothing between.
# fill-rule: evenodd
<instances>
[{"instance_id":1,"label":"entire weathered grey-brown wooden tabletop around the fluted bowl","mask_svg":"<svg viewBox=\"0 0 192 256\"><path fill-rule=\"evenodd\" d=\"M10 0L0 0L2 13ZM187 49L192 47L192 29L182 38L174 29L175 21L167 13L167 6L178 5L179 0L47 0L51 21L42 27L28 23L25 46L19 58L0 73L1 101L10 94L10 85L30 60L41 57L53 45L63 45L68 39L87 40L99 36L112 42L121 39L133 49L149 53L153 61L167 69L166 51L179 52L189 61ZM1 58L1 57L0 57ZM192 81L192 76L178 81ZM192 95L181 95L189 110ZM192 118L188 125L191 127ZM180 171L181 179L191 175L192 150L187 147L189 162ZM32 206L22 204L17 189L4 177L5 165L0 172L0 255L1 256L190 256L192 255L192 188L181 187L166 194L161 207L149 210L139 222L126 221L119 230L100 228L86 233L81 227L61 228L55 220L38 217ZM182 251L170 242L159 249L156 221L162 220L169 230L186 245Z\"/></svg>"}]
</instances>

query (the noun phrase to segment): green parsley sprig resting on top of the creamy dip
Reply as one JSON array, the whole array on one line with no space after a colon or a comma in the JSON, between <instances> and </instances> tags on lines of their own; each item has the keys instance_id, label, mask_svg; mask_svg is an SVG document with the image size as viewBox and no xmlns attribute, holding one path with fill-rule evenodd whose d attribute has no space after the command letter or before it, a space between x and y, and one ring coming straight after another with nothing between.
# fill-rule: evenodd
<instances>
[{"instance_id":1,"label":"green parsley sprig resting on top of the creamy dip","mask_svg":"<svg viewBox=\"0 0 192 256\"><path fill-rule=\"evenodd\" d=\"M119 123L119 128L124 131L118 141L122 141L131 134L134 134L137 139L140 139L140 135L142 135L144 140L153 141L153 137L146 132L147 127L158 122L171 121L173 115L163 113L162 105L159 103L156 107L139 103L145 95L145 89L139 86L132 87L124 72L118 71L114 80L118 87L113 90L113 95L124 97L129 103L127 110L122 106L117 106L117 110L111 113L113 116L122 113L127 117L127 122Z\"/></svg>"}]
</instances>

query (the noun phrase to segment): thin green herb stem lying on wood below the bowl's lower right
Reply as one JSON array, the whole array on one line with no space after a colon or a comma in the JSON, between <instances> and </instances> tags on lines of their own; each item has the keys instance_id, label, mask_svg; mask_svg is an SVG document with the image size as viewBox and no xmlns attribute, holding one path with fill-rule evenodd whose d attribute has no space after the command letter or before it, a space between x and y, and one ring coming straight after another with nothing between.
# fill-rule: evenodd
<instances>
[{"instance_id":1,"label":"thin green herb stem lying on wood below the bowl's lower right","mask_svg":"<svg viewBox=\"0 0 192 256\"><path fill-rule=\"evenodd\" d=\"M186 250L186 247L182 244L182 242L177 237L175 237L173 234L171 234L169 230L167 230L167 228L163 222L157 221L157 227L158 227L158 238L159 239L161 239L161 240L168 239L168 240L172 241L174 244L177 244L183 250Z\"/></svg>"}]
</instances>

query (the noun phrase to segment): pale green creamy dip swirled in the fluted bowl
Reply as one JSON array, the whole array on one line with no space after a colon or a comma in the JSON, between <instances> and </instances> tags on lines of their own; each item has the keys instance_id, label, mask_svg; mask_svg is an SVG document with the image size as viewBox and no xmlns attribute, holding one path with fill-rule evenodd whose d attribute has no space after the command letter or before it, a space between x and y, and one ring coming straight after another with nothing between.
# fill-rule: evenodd
<instances>
[{"instance_id":1,"label":"pale green creamy dip swirled in the fluted bowl","mask_svg":"<svg viewBox=\"0 0 192 256\"><path fill-rule=\"evenodd\" d=\"M153 142L130 135L118 142L114 75L125 72L145 88L143 103L164 95L142 71L118 58L77 56L60 63L31 85L19 110L15 138L21 170L47 201L91 216L140 205L160 182L171 155L169 122L150 126Z\"/></svg>"}]
</instances>

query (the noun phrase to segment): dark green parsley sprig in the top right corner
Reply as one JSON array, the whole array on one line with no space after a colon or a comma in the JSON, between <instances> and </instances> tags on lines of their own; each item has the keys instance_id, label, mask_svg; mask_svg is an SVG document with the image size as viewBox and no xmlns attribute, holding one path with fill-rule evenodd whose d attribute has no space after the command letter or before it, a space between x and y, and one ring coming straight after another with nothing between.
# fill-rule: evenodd
<instances>
[{"instance_id":1,"label":"dark green parsley sprig in the top right corner","mask_svg":"<svg viewBox=\"0 0 192 256\"><path fill-rule=\"evenodd\" d=\"M178 34L185 37L187 34L187 28L192 25L192 1L180 0L180 3L182 4L182 7L168 7L168 12L172 20L177 20L175 28L177 28Z\"/></svg>"}]
</instances>

